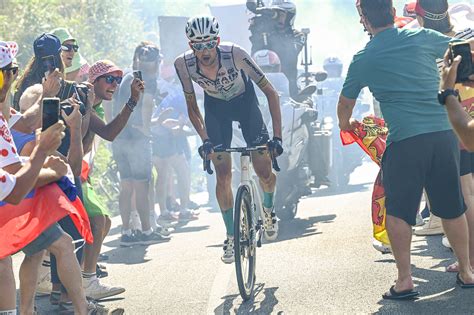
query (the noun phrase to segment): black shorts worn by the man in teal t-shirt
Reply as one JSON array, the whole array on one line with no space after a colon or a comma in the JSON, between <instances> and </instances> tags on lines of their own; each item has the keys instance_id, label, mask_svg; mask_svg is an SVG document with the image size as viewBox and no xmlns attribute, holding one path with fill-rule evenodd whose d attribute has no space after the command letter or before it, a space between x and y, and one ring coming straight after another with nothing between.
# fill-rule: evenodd
<instances>
[{"instance_id":1,"label":"black shorts worn by the man in teal t-shirt","mask_svg":"<svg viewBox=\"0 0 474 315\"><path fill-rule=\"evenodd\" d=\"M442 219L466 211L459 178L459 143L453 131L431 132L391 143L382 159L387 215L415 225L423 188Z\"/></svg>"}]
</instances>

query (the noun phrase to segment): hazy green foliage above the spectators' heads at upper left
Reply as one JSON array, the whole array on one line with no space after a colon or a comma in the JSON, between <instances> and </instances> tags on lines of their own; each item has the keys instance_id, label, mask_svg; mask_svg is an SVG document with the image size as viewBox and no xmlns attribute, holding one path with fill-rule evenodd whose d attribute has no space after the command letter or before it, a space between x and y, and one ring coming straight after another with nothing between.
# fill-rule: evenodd
<instances>
[{"instance_id":1,"label":"hazy green foliage above the spectators' heads at upper left","mask_svg":"<svg viewBox=\"0 0 474 315\"><path fill-rule=\"evenodd\" d=\"M69 29L89 63L110 59L127 66L142 40L143 22L131 0L0 0L0 8L0 36L19 44L23 66L33 55L34 39L56 27Z\"/></svg>"}]
</instances>

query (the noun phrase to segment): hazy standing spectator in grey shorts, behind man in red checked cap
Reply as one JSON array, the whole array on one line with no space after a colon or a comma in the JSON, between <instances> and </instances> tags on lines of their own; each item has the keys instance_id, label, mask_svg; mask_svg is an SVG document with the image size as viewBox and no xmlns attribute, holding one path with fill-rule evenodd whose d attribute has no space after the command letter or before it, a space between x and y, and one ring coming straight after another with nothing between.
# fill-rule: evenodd
<instances>
[{"instance_id":1,"label":"hazy standing spectator in grey shorts, behind man in red checked cap","mask_svg":"<svg viewBox=\"0 0 474 315\"><path fill-rule=\"evenodd\" d=\"M131 114L129 124L124 128L112 144L114 159L120 172L120 197L119 207L122 216L121 246L132 246L136 244L149 245L157 242L167 241L167 235L153 231L150 222L149 189L151 185L151 142L150 122L154 107L154 97L157 91L157 78L161 62L158 47L151 42L142 42L135 49L133 56L133 70L141 71L143 81L134 78L133 73L128 73L120 85L119 92L113 104L113 114L130 99L132 82L140 81L146 84L143 97L137 100L134 113ZM132 83L133 84L133 83ZM133 95L132 95L133 97ZM133 235L130 229L130 213L132 200L135 197L135 206L140 216L142 233ZM153 213L152 213L153 214ZM153 216L154 220L154 216Z\"/></svg>"}]
</instances>

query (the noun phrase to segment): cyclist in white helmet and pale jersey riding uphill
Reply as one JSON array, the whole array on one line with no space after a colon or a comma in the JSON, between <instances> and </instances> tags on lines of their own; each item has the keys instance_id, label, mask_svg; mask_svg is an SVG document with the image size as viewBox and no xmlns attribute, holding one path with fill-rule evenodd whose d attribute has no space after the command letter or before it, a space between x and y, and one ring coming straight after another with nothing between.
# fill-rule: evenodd
<instances>
[{"instance_id":1,"label":"cyclist in white helmet and pale jersey riding uphill","mask_svg":"<svg viewBox=\"0 0 474 315\"><path fill-rule=\"evenodd\" d=\"M268 82L263 71L241 47L232 43L220 44L219 24L215 17L202 16L188 20L186 36L190 51L175 61L176 72L186 97L188 115L201 137L201 156L209 156L216 169L216 195L227 230L222 261L234 261L232 160L227 153L213 153L213 148L230 147L232 122L240 123L248 146L268 144L276 154L283 152L281 139L281 114L278 93ZM196 102L192 81L205 92L205 119ZM258 108L254 81L268 100L272 116L273 139L269 140L267 128ZM253 154L252 162L264 191L264 227L270 239L277 236L278 225L273 207L276 176L272 173L267 151Z\"/></svg>"}]
</instances>

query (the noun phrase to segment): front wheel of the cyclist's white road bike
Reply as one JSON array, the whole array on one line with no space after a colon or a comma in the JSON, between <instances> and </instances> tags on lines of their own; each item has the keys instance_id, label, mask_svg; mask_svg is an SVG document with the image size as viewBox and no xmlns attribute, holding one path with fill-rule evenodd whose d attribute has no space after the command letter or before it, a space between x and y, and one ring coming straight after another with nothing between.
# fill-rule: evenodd
<instances>
[{"instance_id":1,"label":"front wheel of the cyclist's white road bike","mask_svg":"<svg viewBox=\"0 0 474 315\"><path fill-rule=\"evenodd\" d=\"M256 231L249 188L239 187L234 208L234 256L240 296L247 301L255 285Z\"/></svg>"}]
</instances>

